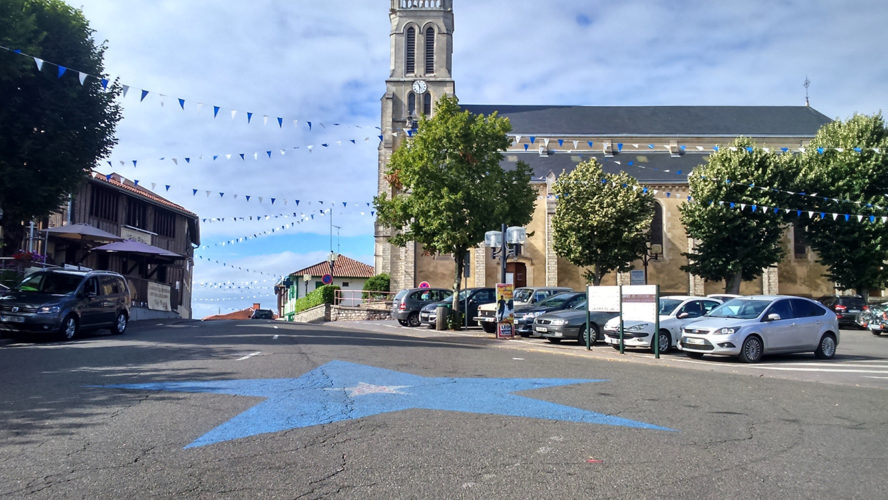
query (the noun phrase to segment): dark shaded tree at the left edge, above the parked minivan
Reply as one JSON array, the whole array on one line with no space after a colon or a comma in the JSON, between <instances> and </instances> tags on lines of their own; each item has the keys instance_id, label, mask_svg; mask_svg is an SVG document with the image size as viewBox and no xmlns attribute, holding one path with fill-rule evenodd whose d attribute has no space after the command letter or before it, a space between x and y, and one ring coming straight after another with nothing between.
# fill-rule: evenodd
<instances>
[{"instance_id":1,"label":"dark shaded tree at the left edge, above the parked minivan","mask_svg":"<svg viewBox=\"0 0 888 500\"><path fill-rule=\"evenodd\" d=\"M103 75L105 45L97 45L83 14L61 0L0 2L0 45L72 69L58 76L49 62L0 51L0 209L7 244L17 250L22 221L57 210L111 151L120 120L119 86L75 71Z\"/></svg>"}]
</instances>

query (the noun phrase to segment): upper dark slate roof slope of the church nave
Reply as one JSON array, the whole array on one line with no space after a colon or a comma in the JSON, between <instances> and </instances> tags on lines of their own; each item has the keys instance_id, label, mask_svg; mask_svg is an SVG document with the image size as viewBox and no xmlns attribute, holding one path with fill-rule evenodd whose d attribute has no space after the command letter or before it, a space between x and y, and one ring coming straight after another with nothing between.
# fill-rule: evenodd
<instances>
[{"instance_id":1,"label":"upper dark slate roof slope of the church nave","mask_svg":"<svg viewBox=\"0 0 888 500\"><path fill-rule=\"evenodd\" d=\"M831 121L808 106L460 106L499 112L513 134L562 137L813 137Z\"/></svg>"}]
</instances>

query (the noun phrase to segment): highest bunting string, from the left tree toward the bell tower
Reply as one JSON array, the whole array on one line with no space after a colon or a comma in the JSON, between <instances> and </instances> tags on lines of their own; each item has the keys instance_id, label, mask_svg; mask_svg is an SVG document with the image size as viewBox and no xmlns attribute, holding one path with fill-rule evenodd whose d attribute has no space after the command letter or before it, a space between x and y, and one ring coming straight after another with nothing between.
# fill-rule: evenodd
<instances>
[{"instance_id":1,"label":"highest bunting string, from the left tree toward the bell tower","mask_svg":"<svg viewBox=\"0 0 888 500\"><path fill-rule=\"evenodd\" d=\"M37 56L33 56L33 55L27 54L25 52L22 52L20 49L12 49L12 48L9 48L9 47L3 46L3 45L0 45L0 49L5 50L10 53L13 53L13 54L18 54L20 56L30 58L31 60L34 61L34 64L37 67L37 71L43 71L43 67L46 65L54 66L56 68L56 78L57 79L61 79L64 75L66 75L68 73L76 74L78 80L80 81L81 86L85 85L87 80L95 80L95 81L99 82L99 84L101 85L103 90L108 90L108 85L110 85L110 83L111 83L111 80L109 78L106 78L106 77L103 77L100 75L93 75L93 74L90 74L90 73L87 73L84 71L79 71L79 70L76 70L76 69L70 68L68 66L64 66L62 64L55 63L55 62L46 61L46 60L41 59ZM146 98L149 98L149 96L151 96L152 98L154 96L156 96L157 99L159 100L161 107L165 107L167 100L174 103L173 107L178 105L178 107L182 111L185 110L186 104L189 106L189 108L192 105L195 106L198 112L202 111L203 108L206 107L208 113L209 113L209 110L212 110L213 119L215 119L219 115L220 111L222 111L223 109L226 111L226 114L231 115L232 120L235 119L235 117L240 113L238 110L230 108L228 106L208 105L202 101L194 101L192 99L185 99L185 98L181 98L181 97L173 98L173 97L169 96L168 94L164 94L162 92L157 92L154 90L149 90L149 89L144 89L144 88L139 89L139 88L137 88L133 85L130 85L130 84L121 84L121 90L122 90L124 98L129 94L130 90L138 90L137 94L139 96L140 103L144 102ZM313 130L313 127L321 127L321 128L326 129L328 125L330 127L340 127L343 125L338 122L333 122L333 123L328 123L328 124L325 124L323 122L315 122L313 124L313 122L309 121L309 120L299 120L299 119L292 119L292 118L285 119L283 114L280 114L280 113L261 114L260 115L258 113L253 113L251 111L247 111L247 112L243 113L242 116L246 119L246 123L248 125L252 124L254 122L259 123L260 121L262 122L263 125L268 125L269 121L271 121L272 124L277 123L278 128L283 128L285 122L288 124L288 126L289 126L290 122L292 122L294 127L298 127L299 122L302 121L305 124L305 127L307 127L309 132L311 132ZM255 120L254 120L254 117L256 117ZM260 117L261 117L261 120L260 120ZM353 125L353 126L355 128L371 128L371 129L376 128L376 129L379 129L379 127L373 127L373 126L364 126L364 127L362 127L361 125Z\"/></svg>"}]
</instances>

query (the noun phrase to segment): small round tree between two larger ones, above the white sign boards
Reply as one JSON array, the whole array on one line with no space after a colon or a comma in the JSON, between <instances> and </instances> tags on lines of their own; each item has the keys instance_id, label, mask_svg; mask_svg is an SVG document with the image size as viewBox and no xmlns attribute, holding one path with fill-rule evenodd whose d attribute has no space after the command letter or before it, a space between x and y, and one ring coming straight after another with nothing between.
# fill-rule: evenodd
<instances>
[{"instance_id":1,"label":"small round tree between two larger ones, above the white sign boards","mask_svg":"<svg viewBox=\"0 0 888 500\"><path fill-rule=\"evenodd\" d=\"M654 197L625 172L605 174L596 159L579 163L555 181L555 253L588 267L593 285L611 271L628 271L645 252Z\"/></svg>"}]
</instances>

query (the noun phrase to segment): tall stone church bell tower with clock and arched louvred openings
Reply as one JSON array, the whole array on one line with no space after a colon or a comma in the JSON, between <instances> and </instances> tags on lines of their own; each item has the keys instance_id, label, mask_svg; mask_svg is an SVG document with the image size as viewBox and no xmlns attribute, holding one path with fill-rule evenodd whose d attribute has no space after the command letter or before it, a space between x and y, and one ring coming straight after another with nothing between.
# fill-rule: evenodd
<instances>
[{"instance_id":1,"label":"tall stone church bell tower with clock and arched louvred openings","mask_svg":"<svg viewBox=\"0 0 888 500\"><path fill-rule=\"evenodd\" d=\"M435 101L454 95L453 0L391 0L391 68L382 96L378 191L392 195L385 170L394 152ZM391 289L416 286L416 244L389 244L392 229L375 226L376 273L391 275Z\"/></svg>"}]
</instances>

